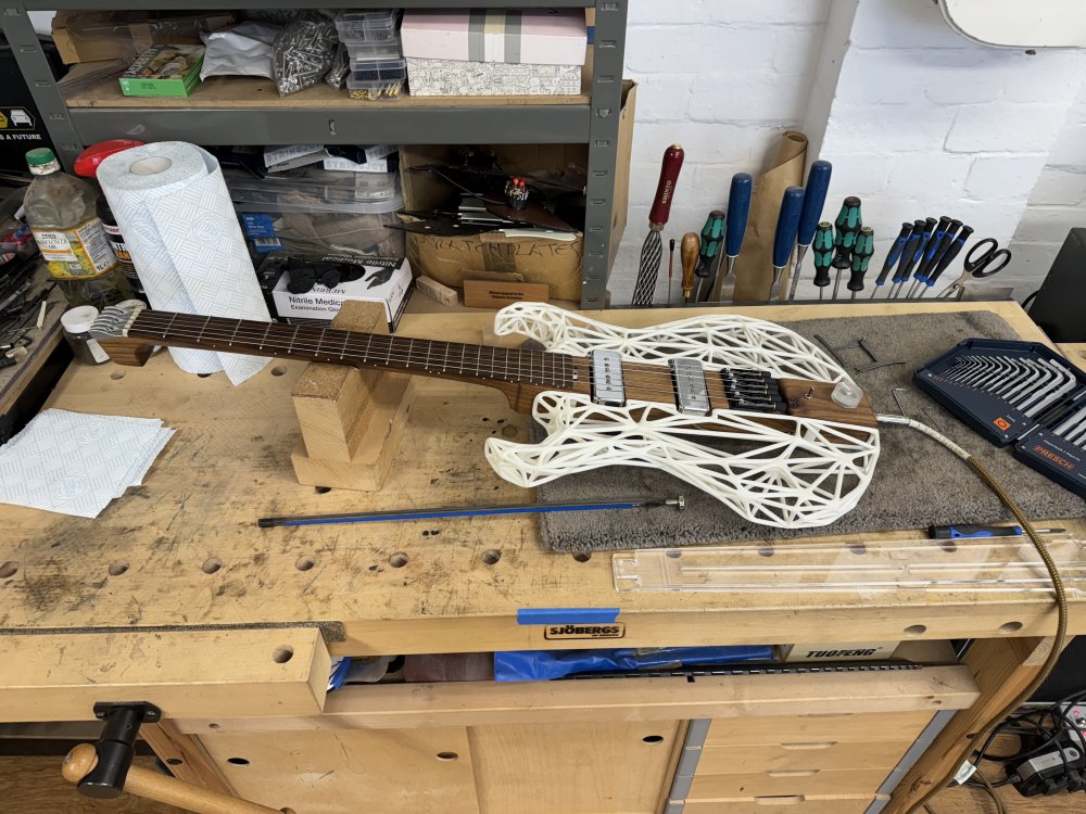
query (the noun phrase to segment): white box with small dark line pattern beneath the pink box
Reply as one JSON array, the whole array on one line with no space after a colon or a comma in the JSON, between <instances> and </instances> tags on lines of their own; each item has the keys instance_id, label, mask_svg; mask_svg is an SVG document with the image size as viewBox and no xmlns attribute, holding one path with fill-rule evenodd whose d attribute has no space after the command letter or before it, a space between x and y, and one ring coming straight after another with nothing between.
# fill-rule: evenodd
<instances>
[{"instance_id":1,"label":"white box with small dark line pattern beneath the pink box","mask_svg":"<svg viewBox=\"0 0 1086 814\"><path fill-rule=\"evenodd\" d=\"M413 97L543 97L581 92L580 65L506 65L407 58Z\"/></svg>"}]
</instances>

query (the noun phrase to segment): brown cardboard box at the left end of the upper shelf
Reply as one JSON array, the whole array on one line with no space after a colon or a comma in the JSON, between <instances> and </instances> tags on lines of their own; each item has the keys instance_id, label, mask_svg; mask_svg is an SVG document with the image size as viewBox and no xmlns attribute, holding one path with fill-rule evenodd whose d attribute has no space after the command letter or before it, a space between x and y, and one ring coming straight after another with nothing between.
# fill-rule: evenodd
<instances>
[{"instance_id":1,"label":"brown cardboard box at the left end of the upper shelf","mask_svg":"<svg viewBox=\"0 0 1086 814\"><path fill-rule=\"evenodd\" d=\"M153 14L118 11L58 11L53 42L65 64L98 60L135 60L151 46L202 44L201 34L237 22L229 12Z\"/></svg>"}]
</instances>

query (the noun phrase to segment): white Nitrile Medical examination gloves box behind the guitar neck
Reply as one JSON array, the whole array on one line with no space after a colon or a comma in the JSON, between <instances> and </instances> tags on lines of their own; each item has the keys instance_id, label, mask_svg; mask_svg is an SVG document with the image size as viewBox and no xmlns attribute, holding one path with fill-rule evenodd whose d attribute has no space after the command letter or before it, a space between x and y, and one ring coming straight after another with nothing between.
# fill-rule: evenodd
<instances>
[{"instance_id":1,"label":"white Nitrile Medical examination gloves box behind the guitar neck","mask_svg":"<svg viewBox=\"0 0 1086 814\"><path fill-rule=\"evenodd\" d=\"M304 294L292 294L287 290L289 275L279 278L272 290L276 313L283 318L331 320L339 314L340 307L348 300L364 303L381 303L389 320L389 331L395 331L400 317L407 305L414 280L411 264L403 257L325 257L344 263L358 263L366 271L357 280L342 282L334 289L321 285L319 282ZM388 277L383 282L383 277Z\"/></svg>"}]
</instances>

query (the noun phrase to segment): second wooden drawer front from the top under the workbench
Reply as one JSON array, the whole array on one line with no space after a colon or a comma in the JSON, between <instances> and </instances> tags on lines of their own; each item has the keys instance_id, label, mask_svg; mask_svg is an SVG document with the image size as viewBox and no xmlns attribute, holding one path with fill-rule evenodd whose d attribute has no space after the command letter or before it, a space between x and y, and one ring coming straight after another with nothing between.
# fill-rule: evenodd
<instances>
[{"instance_id":1,"label":"second wooden drawer front from the top under the workbench","mask_svg":"<svg viewBox=\"0 0 1086 814\"><path fill-rule=\"evenodd\" d=\"M809 740L790 743L757 743L706 747L696 774L734 775L771 770L893 768L909 750L906 740L849 743Z\"/></svg>"}]
</instances>

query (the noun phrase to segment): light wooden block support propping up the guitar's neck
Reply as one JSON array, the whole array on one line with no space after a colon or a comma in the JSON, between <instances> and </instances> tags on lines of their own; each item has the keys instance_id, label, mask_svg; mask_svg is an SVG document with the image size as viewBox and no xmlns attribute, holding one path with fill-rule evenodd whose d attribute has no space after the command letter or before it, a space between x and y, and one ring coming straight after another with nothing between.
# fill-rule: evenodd
<instances>
[{"instance_id":1,"label":"light wooden block support propping up the guitar's neck","mask_svg":"<svg viewBox=\"0 0 1086 814\"><path fill-rule=\"evenodd\" d=\"M384 308L349 301L332 328L388 333ZM411 411L411 378L314 363L291 397L302 428L302 444L291 455L299 483L379 489Z\"/></svg>"}]
</instances>

